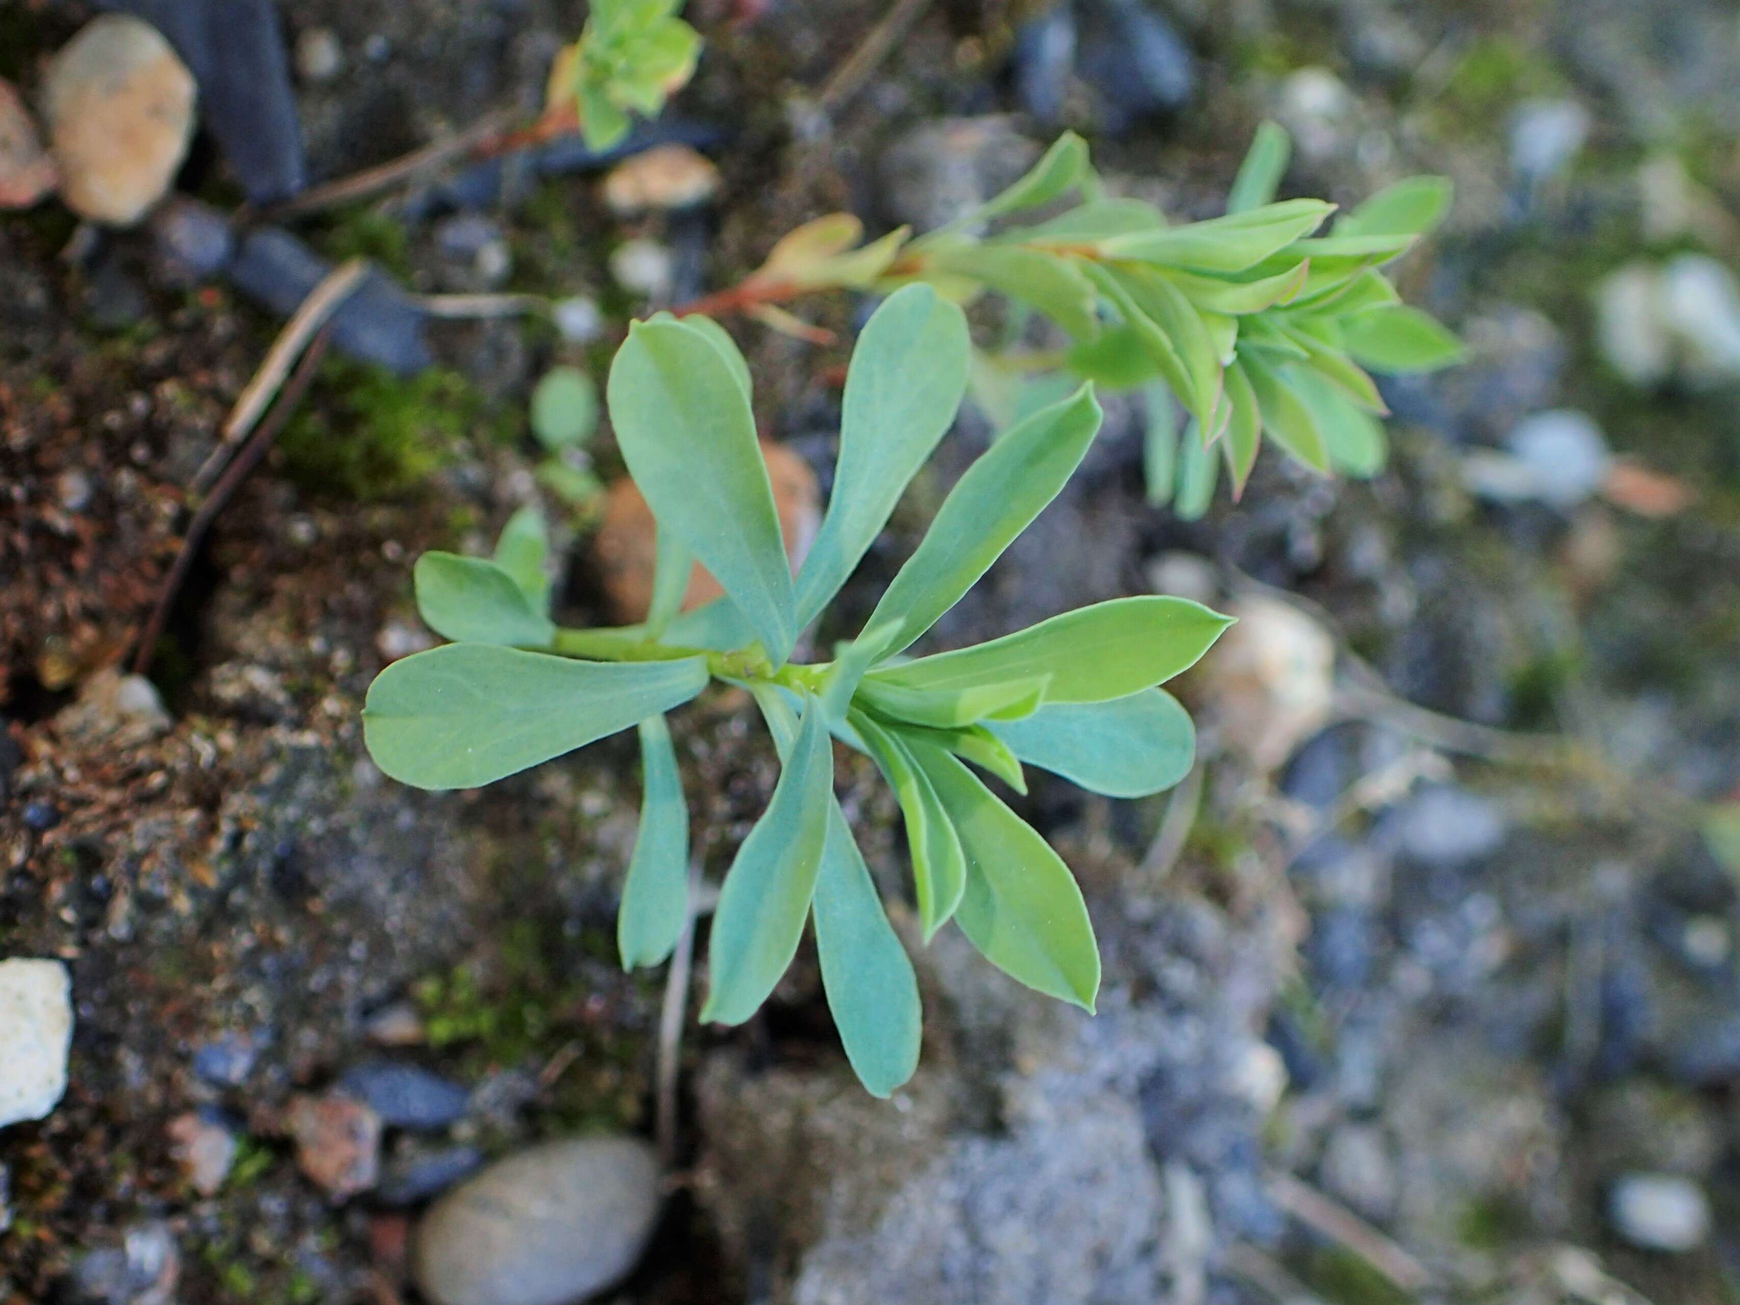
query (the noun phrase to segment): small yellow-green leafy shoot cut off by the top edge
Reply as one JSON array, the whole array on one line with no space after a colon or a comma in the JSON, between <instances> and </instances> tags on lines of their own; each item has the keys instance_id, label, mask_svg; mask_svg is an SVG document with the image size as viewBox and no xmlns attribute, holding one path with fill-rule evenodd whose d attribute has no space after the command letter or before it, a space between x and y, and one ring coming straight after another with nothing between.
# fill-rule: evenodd
<instances>
[{"instance_id":1,"label":"small yellow-green leafy shoot cut off by the top edge","mask_svg":"<svg viewBox=\"0 0 1740 1305\"><path fill-rule=\"evenodd\" d=\"M546 111L572 104L593 150L628 134L628 115L654 117L694 75L701 38L677 17L682 0L592 0L579 40L550 70Z\"/></svg>"}]
</instances>

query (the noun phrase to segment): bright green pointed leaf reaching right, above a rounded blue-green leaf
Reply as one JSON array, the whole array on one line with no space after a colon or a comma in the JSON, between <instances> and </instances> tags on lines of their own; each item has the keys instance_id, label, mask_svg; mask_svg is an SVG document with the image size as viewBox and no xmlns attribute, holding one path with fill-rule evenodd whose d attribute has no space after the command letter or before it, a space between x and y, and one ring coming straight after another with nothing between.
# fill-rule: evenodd
<instances>
[{"instance_id":1,"label":"bright green pointed leaf reaching right, above a rounded blue-green leaf","mask_svg":"<svg viewBox=\"0 0 1740 1305\"><path fill-rule=\"evenodd\" d=\"M1230 618L1188 599L1112 599L988 644L879 666L865 677L863 691L966 689L1051 677L1046 705L1103 703L1188 670L1228 625Z\"/></svg>"}]
</instances>

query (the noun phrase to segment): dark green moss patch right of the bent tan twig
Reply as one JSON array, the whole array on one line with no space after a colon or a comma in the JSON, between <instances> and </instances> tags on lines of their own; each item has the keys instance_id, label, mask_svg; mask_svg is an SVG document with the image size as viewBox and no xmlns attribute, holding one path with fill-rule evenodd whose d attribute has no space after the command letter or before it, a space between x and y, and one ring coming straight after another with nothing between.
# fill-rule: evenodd
<instances>
[{"instance_id":1,"label":"dark green moss patch right of the bent tan twig","mask_svg":"<svg viewBox=\"0 0 1740 1305\"><path fill-rule=\"evenodd\" d=\"M484 425L484 400L456 372L409 379L332 358L324 402L304 407L278 438L284 473L310 492L364 501L400 496L452 459L452 445Z\"/></svg>"}]
</instances>

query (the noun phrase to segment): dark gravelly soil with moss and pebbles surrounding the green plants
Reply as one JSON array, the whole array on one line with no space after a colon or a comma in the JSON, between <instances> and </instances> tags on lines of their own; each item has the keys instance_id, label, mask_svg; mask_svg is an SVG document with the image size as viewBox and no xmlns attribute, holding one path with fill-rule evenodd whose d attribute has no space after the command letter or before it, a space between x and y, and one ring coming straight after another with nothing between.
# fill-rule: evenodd
<instances>
[{"instance_id":1,"label":"dark gravelly soil with moss and pebbles surrounding the green plants","mask_svg":"<svg viewBox=\"0 0 1740 1305\"><path fill-rule=\"evenodd\" d=\"M64 1098L7 1105L0 1300L529 1305L630 1268L602 1300L1740 1298L1740 5L689 0L699 73L625 150L303 211L275 205L534 115L583 5L118 7L202 117L174 193L99 231L35 202L17 127L96 9L0 0L0 198L35 202L0 214L0 966L64 962L73 1018ZM853 1081L807 945L750 1025L661 1035L665 971L614 959L628 740L463 795L367 762L364 689L430 640L421 550L485 552L541 501L559 618L633 583L599 546L609 440L529 428L552 365L602 378L630 317L809 218L948 221L1063 127L1114 193L1218 214L1265 118L1295 139L1284 197L1455 181L1395 273L1469 358L1383 383L1376 478L1265 452L1195 522L1148 505L1152 414L1110 397L1082 473L938 626L1141 592L1241 616L1181 684L1185 785L1025 800L1088 894L1096 1018L948 931L915 948L924 1063L893 1103ZM238 395L355 256L350 325L177 572ZM833 345L727 322L764 437L816 480L799 508L867 308L793 304ZM969 407L818 647L987 438ZM679 752L717 875L771 748L713 694ZM842 800L898 898L898 814L858 762ZM0 969L21 1093L61 1072L31 999L61 973ZM654 1136L663 1169L539 1148ZM426 1213L466 1178L484 1195Z\"/></svg>"}]
</instances>

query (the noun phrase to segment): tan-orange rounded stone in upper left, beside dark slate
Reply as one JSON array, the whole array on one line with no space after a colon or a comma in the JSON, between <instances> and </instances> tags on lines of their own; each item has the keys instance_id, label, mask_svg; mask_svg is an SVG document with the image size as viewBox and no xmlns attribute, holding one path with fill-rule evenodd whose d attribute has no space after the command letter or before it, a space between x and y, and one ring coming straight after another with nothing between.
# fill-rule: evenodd
<instances>
[{"instance_id":1,"label":"tan-orange rounded stone in upper left, beside dark slate","mask_svg":"<svg viewBox=\"0 0 1740 1305\"><path fill-rule=\"evenodd\" d=\"M193 73L150 23L104 14L44 75L61 198L80 218L130 226L169 190L193 136Z\"/></svg>"}]
</instances>

